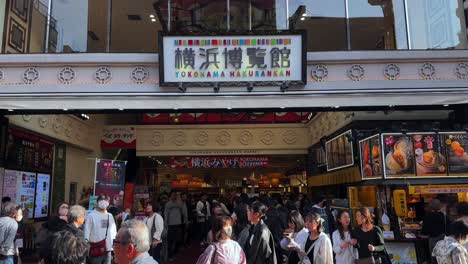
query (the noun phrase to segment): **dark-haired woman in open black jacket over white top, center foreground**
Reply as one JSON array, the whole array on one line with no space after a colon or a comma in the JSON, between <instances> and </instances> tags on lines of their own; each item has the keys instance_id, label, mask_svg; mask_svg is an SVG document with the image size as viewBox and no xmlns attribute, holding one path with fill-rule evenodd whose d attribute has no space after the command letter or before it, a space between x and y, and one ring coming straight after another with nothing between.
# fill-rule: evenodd
<instances>
[{"instance_id":1,"label":"dark-haired woman in open black jacket over white top, center foreground","mask_svg":"<svg viewBox=\"0 0 468 264\"><path fill-rule=\"evenodd\" d=\"M244 251L249 264L276 264L275 241L268 226L263 221L267 207L261 202L254 202L248 216L252 224Z\"/></svg>"}]
</instances>

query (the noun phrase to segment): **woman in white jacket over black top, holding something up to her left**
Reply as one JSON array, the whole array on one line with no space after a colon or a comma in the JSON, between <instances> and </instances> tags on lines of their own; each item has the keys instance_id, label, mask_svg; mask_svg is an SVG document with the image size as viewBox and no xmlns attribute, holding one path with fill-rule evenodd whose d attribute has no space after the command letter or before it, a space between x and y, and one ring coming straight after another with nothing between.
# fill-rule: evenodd
<instances>
[{"instance_id":1,"label":"woman in white jacket over black top, holding something up to her left","mask_svg":"<svg viewBox=\"0 0 468 264\"><path fill-rule=\"evenodd\" d=\"M333 263L333 250L328 235L323 232L323 221L317 213L309 213L305 217L305 226L309 236L304 241L291 242L291 248L298 252L300 264L330 264ZM311 261L312 259L312 261Z\"/></svg>"}]
</instances>

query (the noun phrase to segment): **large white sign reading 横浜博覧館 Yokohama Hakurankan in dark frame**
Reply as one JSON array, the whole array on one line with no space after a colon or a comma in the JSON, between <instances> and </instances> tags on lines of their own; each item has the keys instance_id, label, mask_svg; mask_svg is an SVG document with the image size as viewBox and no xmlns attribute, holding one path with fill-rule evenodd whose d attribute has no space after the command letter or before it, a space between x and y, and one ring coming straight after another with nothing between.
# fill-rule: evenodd
<instances>
[{"instance_id":1,"label":"large white sign reading \u6a2a\u6d5c\u535a\u89a7\u9928 Yokohama Hakurankan in dark frame","mask_svg":"<svg viewBox=\"0 0 468 264\"><path fill-rule=\"evenodd\" d=\"M305 84L305 35L161 36L160 85Z\"/></svg>"}]
</instances>

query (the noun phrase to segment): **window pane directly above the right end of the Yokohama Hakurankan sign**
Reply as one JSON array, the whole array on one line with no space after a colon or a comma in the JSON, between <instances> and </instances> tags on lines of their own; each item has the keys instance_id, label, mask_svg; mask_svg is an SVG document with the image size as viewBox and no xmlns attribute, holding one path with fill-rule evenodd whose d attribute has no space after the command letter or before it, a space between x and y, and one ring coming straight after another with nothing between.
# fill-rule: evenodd
<instances>
[{"instance_id":1,"label":"window pane directly above the right end of the Yokohama Hakurankan sign","mask_svg":"<svg viewBox=\"0 0 468 264\"><path fill-rule=\"evenodd\" d=\"M345 0L291 0L288 11L289 27L307 31L308 51L347 49Z\"/></svg>"}]
</instances>

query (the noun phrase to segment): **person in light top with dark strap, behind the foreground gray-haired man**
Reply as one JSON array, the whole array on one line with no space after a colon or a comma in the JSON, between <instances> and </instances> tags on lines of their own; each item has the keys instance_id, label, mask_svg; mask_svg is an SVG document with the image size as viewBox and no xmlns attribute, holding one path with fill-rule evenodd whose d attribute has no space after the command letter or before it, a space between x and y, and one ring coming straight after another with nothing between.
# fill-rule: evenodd
<instances>
[{"instance_id":1,"label":"person in light top with dark strap, behind the foreground gray-haired man","mask_svg":"<svg viewBox=\"0 0 468 264\"><path fill-rule=\"evenodd\" d=\"M153 205L148 202L145 208L146 217L143 222L145 222L150 232L150 255L159 262L161 258L161 235L164 231L164 220L160 214L156 213L157 208L157 204Z\"/></svg>"}]
</instances>

